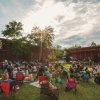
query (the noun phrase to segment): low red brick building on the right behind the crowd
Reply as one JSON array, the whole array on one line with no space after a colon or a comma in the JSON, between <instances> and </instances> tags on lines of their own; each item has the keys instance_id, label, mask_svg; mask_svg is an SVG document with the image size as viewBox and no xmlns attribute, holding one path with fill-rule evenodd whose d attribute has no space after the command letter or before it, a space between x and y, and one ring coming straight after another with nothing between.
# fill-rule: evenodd
<instances>
[{"instance_id":1,"label":"low red brick building on the right behind the crowd","mask_svg":"<svg viewBox=\"0 0 100 100\"><path fill-rule=\"evenodd\" d=\"M72 57L75 59L93 60L95 58L100 58L100 46L75 48L75 49L70 49L70 52Z\"/></svg>"}]
</instances>

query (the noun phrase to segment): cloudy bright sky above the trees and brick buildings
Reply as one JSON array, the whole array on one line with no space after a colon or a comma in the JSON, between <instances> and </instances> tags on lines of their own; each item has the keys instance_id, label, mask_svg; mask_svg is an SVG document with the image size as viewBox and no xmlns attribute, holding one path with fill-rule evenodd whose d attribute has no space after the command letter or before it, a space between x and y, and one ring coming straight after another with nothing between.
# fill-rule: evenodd
<instances>
[{"instance_id":1,"label":"cloudy bright sky above the trees and brick buildings","mask_svg":"<svg viewBox=\"0 0 100 100\"><path fill-rule=\"evenodd\" d=\"M0 33L13 20L24 34L52 26L54 44L62 47L100 45L100 0L0 0Z\"/></svg>"}]
</instances>

